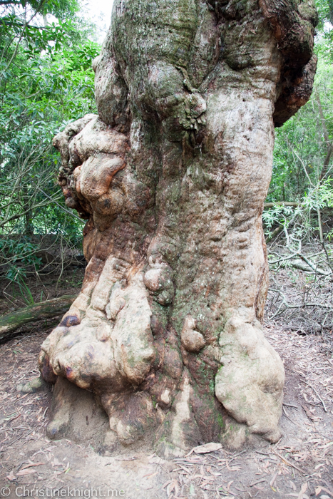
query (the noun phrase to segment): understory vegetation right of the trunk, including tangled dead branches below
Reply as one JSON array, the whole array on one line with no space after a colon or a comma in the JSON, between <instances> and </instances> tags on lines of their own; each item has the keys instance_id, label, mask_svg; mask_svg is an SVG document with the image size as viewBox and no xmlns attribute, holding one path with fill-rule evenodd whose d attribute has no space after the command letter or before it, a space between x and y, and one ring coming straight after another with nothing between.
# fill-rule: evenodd
<instances>
[{"instance_id":1,"label":"understory vegetation right of the trunk, including tangled dead branches below","mask_svg":"<svg viewBox=\"0 0 333 499\"><path fill-rule=\"evenodd\" d=\"M332 340L333 4L317 1L318 56L309 102L276 130L262 219L270 262L266 317Z\"/></svg>"}]
</instances>

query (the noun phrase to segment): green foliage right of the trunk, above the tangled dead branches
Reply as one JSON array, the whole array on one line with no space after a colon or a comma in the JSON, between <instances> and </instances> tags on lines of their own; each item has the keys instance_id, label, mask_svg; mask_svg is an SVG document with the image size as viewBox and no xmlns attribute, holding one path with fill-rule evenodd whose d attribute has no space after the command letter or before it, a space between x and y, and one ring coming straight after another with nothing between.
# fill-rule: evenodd
<instances>
[{"instance_id":1,"label":"green foliage right of the trunk, above the tangled dead branches","mask_svg":"<svg viewBox=\"0 0 333 499\"><path fill-rule=\"evenodd\" d=\"M274 225L292 224L297 237L301 232L302 237L314 237L322 225L320 210L333 207L333 1L319 0L317 9L315 51L319 59L314 91L309 102L276 129L267 196L268 202L299 202L299 208L265 210L263 220L269 237ZM331 237L332 231L326 232Z\"/></svg>"}]
</instances>

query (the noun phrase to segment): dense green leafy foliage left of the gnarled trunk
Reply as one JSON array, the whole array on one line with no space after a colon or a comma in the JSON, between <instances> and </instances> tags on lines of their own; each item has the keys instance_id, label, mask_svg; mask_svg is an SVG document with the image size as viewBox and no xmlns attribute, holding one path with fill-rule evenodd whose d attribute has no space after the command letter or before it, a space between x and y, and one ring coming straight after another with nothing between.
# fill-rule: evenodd
<instances>
[{"instance_id":1,"label":"dense green leafy foliage left of the gnarled trunk","mask_svg":"<svg viewBox=\"0 0 333 499\"><path fill-rule=\"evenodd\" d=\"M83 221L56 185L59 155L51 140L96 110L91 63L100 46L93 27L76 16L76 0L11 7L0 10L0 271L19 284L26 268L41 267L30 235L81 242ZM41 26L39 13L58 19Z\"/></svg>"}]
</instances>

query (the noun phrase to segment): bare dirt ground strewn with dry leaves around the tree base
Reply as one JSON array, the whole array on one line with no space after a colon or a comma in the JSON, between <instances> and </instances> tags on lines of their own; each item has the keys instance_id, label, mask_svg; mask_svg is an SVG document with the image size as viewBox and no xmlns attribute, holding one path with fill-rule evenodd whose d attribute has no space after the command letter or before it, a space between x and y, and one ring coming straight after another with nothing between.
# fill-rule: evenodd
<instances>
[{"instance_id":1,"label":"bare dirt ground strewn with dry leaves around the tree base","mask_svg":"<svg viewBox=\"0 0 333 499\"><path fill-rule=\"evenodd\" d=\"M266 324L286 370L276 445L164 461L133 448L100 456L82 442L46 437L51 389L23 394L16 385L38 376L39 348L52 325L39 323L0 346L0 497L333 498L332 331L301 336Z\"/></svg>"}]
</instances>

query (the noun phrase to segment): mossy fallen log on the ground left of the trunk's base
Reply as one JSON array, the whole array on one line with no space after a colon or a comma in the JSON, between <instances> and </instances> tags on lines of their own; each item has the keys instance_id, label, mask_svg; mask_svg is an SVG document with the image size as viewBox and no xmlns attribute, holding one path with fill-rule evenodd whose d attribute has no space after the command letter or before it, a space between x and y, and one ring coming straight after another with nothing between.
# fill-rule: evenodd
<instances>
[{"instance_id":1,"label":"mossy fallen log on the ground left of the trunk's base","mask_svg":"<svg viewBox=\"0 0 333 499\"><path fill-rule=\"evenodd\" d=\"M73 295L54 298L0 317L0 341L9 339L16 329L29 322L65 314L75 299L76 296Z\"/></svg>"}]
</instances>

